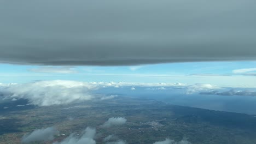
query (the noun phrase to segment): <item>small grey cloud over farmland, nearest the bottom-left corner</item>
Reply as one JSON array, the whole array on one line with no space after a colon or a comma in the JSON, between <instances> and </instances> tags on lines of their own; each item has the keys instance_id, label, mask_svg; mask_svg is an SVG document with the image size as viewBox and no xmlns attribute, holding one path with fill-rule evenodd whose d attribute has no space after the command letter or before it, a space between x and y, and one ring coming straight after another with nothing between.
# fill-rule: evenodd
<instances>
[{"instance_id":1,"label":"small grey cloud over farmland, nearest the bottom-left corner","mask_svg":"<svg viewBox=\"0 0 256 144\"><path fill-rule=\"evenodd\" d=\"M31 134L24 135L22 137L22 143L29 143L33 141L51 141L54 139L54 135L59 134L54 127L49 127L46 129L34 130Z\"/></svg>"}]
</instances>

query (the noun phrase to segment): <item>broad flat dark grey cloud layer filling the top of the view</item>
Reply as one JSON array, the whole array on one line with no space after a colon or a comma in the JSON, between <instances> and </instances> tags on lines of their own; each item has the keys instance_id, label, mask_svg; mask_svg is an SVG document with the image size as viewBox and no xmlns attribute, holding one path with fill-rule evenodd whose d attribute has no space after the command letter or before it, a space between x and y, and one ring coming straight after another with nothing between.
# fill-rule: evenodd
<instances>
[{"instance_id":1,"label":"broad flat dark grey cloud layer filling the top of the view","mask_svg":"<svg viewBox=\"0 0 256 144\"><path fill-rule=\"evenodd\" d=\"M255 60L255 15L254 0L1 1L0 62Z\"/></svg>"}]
</instances>

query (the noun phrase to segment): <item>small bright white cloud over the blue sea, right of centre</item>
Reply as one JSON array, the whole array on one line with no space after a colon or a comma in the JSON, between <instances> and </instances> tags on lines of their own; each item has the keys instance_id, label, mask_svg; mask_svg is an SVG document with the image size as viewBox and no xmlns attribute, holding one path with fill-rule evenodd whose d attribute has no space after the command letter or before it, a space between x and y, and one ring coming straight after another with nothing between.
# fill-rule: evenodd
<instances>
[{"instance_id":1,"label":"small bright white cloud over the blue sea, right of centre","mask_svg":"<svg viewBox=\"0 0 256 144\"><path fill-rule=\"evenodd\" d=\"M209 91L211 89L219 89L217 86L205 83L196 83L195 85L187 86L186 94L193 94L195 92Z\"/></svg>"}]
</instances>

